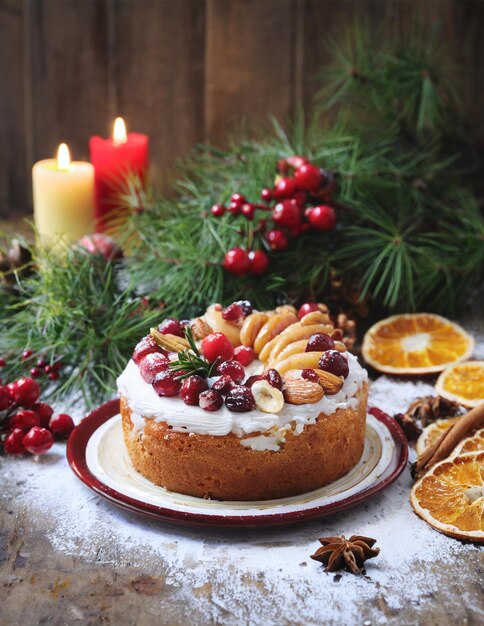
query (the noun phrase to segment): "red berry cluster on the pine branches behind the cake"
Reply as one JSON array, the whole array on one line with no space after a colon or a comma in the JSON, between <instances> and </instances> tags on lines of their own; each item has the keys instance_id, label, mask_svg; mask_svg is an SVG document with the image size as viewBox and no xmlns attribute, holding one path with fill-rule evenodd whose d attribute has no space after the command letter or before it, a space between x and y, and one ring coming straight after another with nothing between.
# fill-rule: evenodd
<instances>
[{"instance_id":1,"label":"red berry cluster on the pine branches behind the cake","mask_svg":"<svg viewBox=\"0 0 484 626\"><path fill-rule=\"evenodd\" d=\"M335 191L335 177L307 159L292 156L277 164L278 176L272 189L263 189L261 199L265 204L249 202L240 193L234 193L226 207L216 204L212 215L221 217L226 213L242 215L252 222L257 211L271 212L271 219L261 217L253 235L260 235L266 249L283 250L290 237L298 237L310 230L328 231L336 225L336 212L329 204ZM223 267L235 276L263 274L269 265L269 257L263 250L231 248L225 255Z\"/></svg>"}]
</instances>

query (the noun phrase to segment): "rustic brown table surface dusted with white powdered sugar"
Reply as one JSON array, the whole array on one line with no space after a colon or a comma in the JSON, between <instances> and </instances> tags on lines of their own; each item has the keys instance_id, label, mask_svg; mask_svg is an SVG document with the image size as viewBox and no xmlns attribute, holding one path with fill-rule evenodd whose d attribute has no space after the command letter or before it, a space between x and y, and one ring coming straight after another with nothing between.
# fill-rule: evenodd
<instances>
[{"instance_id":1,"label":"rustic brown table surface dusted with white powdered sugar","mask_svg":"<svg viewBox=\"0 0 484 626\"><path fill-rule=\"evenodd\" d=\"M478 338L482 323L466 327ZM395 413L432 381L372 384ZM279 529L187 529L110 505L74 476L56 444L36 461L0 458L0 623L482 624L481 548L445 537L411 510L409 472L366 503ZM365 576L309 558L322 535L375 537Z\"/></svg>"}]
</instances>

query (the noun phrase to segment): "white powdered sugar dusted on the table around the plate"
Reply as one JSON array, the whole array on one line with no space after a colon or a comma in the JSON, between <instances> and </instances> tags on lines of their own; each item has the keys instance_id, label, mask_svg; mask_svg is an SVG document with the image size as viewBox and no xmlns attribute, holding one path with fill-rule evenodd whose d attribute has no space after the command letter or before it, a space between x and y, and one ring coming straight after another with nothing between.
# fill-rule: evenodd
<instances>
[{"instance_id":1,"label":"white powdered sugar dusted on the table around the plate","mask_svg":"<svg viewBox=\"0 0 484 626\"><path fill-rule=\"evenodd\" d=\"M483 355L484 341L476 342L475 358ZM432 392L431 381L383 376L371 386L370 403L393 414ZM412 512L408 471L383 493L330 518L282 529L224 531L164 525L111 506L68 469L60 444L38 462L5 458L2 484L13 483L18 465L24 480L15 486L16 506L45 526L55 548L163 574L177 601L210 623L318 624L324 615L325 623L363 623L369 617L383 624L402 607L422 607L453 584L449 572L463 557L476 567L480 558L477 546L437 533ZM309 558L319 536L353 533L375 537L381 548L366 576L326 574ZM479 613L475 597L469 601Z\"/></svg>"}]
</instances>

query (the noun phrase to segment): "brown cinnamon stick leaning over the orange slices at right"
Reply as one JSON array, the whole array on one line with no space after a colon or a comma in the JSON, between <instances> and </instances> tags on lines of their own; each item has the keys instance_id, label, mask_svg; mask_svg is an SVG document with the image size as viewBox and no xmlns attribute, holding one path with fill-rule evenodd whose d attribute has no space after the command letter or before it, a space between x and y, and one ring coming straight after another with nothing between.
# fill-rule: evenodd
<instances>
[{"instance_id":1,"label":"brown cinnamon stick leaning over the orange slices at right","mask_svg":"<svg viewBox=\"0 0 484 626\"><path fill-rule=\"evenodd\" d=\"M422 452L415 465L415 478L420 478L433 465L446 459L457 444L479 428L484 428L484 404L480 404L467 415L463 415L432 446Z\"/></svg>"}]
</instances>

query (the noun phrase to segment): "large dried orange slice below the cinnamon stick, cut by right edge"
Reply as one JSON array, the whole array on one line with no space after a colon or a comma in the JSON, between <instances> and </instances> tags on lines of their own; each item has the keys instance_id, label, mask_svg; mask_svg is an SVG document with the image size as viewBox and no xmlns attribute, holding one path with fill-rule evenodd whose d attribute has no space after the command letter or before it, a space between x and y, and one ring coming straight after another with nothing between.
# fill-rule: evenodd
<instances>
[{"instance_id":1,"label":"large dried orange slice below the cinnamon stick, cut by right edge","mask_svg":"<svg viewBox=\"0 0 484 626\"><path fill-rule=\"evenodd\" d=\"M415 483L410 503L439 532L484 543L483 478L484 451L452 456Z\"/></svg>"}]
</instances>

